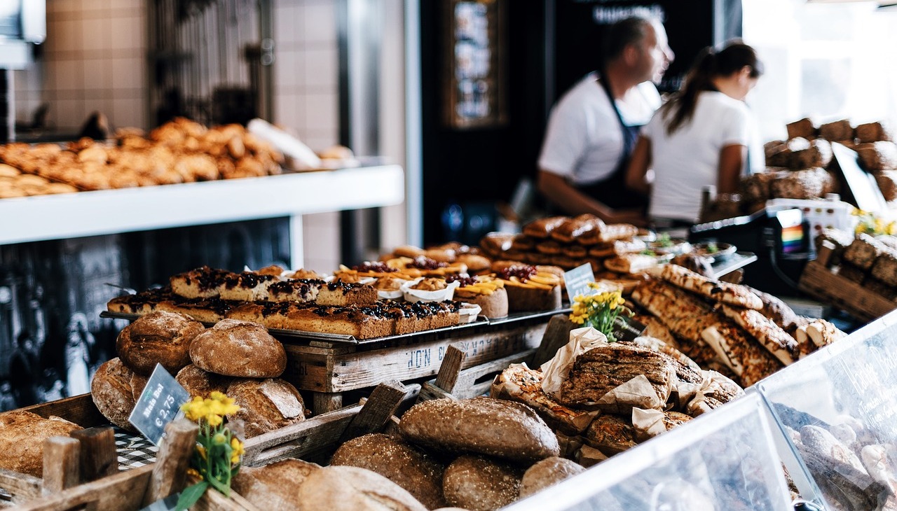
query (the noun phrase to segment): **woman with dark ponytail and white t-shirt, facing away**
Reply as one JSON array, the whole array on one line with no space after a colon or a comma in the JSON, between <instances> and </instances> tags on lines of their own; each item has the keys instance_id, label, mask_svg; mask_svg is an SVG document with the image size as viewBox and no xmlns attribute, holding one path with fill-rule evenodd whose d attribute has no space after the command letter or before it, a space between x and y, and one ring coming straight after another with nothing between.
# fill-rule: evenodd
<instances>
[{"instance_id":1,"label":"woman with dark ponytail and white t-shirt, facing away","mask_svg":"<svg viewBox=\"0 0 897 511\"><path fill-rule=\"evenodd\" d=\"M698 221L704 186L737 191L753 136L745 97L762 73L754 49L740 41L718 52L705 48L683 89L642 129L626 185L650 195L649 217L658 228Z\"/></svg>"}]
</instances>

